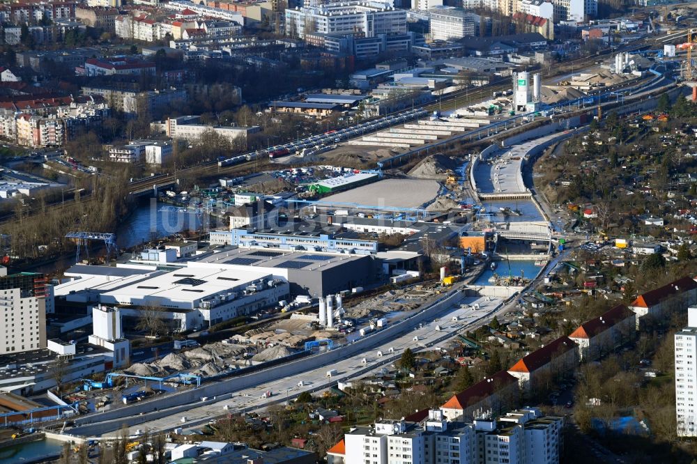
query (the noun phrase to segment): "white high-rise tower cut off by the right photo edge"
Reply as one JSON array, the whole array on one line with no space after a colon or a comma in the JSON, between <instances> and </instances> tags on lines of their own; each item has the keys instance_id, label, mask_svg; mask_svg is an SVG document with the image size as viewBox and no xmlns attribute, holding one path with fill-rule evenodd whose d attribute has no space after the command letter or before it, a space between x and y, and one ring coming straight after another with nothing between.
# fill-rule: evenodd
<instances>
[{"instance_id":1,"label":"white high-rise tower cut off by the right photo edge","mask_svg":"<svg viewBox=\"0 0 697 464\"><path fill-rule=\"evenodd\" d=\"M687 327L675 334L677 435L697 437L697 307L687 309Z\"/></svg>"}]
</instances>

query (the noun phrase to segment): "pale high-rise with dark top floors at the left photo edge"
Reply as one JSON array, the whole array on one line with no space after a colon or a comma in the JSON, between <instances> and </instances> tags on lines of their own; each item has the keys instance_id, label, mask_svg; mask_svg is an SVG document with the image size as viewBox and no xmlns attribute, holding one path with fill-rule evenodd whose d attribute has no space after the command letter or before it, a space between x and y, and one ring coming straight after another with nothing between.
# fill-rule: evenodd
<instances>
[{"instance_id":1,"label":"pale high-rise with dark top floors at the left photo edge","mask_svg":"<svg viewBox=\"0 0 697 464\"><path fill-rule=\"evenodd\" d=\"M0 276L0 355L46 348L46 307L53 306L46 277L6 268Z\"/></svg>"}]
</instances>

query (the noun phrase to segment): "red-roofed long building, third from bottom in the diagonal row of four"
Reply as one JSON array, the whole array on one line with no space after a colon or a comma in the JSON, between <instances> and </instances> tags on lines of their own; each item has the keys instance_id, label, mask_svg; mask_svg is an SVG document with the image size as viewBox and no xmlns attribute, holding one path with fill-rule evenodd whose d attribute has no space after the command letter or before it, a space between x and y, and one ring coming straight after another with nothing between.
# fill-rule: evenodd
<instances>
[{"instance_id":1,"label":"red-roofed long building, third from bottom in the diagonal row of four","mask_svg":"<svg viewBox=\"0 0 697 464\"><path fill-rule=\"evenodd\" d=\"M636 337L636 314L618 304L602 316L587 320L569 339L579 346L581 361L594 361Z\"/></svg>"}]
</instances>

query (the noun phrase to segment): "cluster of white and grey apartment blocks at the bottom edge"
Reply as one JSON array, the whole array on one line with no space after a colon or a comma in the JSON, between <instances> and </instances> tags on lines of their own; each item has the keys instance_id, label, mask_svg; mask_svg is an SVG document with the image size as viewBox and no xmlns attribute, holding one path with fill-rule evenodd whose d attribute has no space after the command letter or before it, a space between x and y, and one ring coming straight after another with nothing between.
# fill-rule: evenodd
<instances>
[{"instance_id":1,"label":"cluster of white and grey apartment blocks at the bottom edge","mask_svg":"<svg viewBox=\"0 0 697 464\"><path fill-rule=\"evenodd\" d=\"M447 422L429 410L420 422L382 420L344 435L344 464L553 464L563 419L535 408L473 424ZM332 456L336 458L337 456Z\"/></svg>"}]
</instances>

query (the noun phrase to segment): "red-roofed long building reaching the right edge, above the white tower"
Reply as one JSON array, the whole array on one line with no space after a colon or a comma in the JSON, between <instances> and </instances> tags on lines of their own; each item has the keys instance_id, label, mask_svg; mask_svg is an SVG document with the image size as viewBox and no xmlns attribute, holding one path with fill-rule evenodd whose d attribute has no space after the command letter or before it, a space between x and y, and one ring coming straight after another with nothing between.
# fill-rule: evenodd
<instances>
[{"instance_id":1,"label":"red-roofed long building reaching the right edge, above the white tower","mask_svg":"<svg viewBox=\"0 0 697 464\"><path fill-rule=\"evenodd\" d=\"M682 277L668 285L642 293L631 302L629 309L636 314L636 327L639 328L645 316L669 317L673 311L687 311L687 307L696 303L697 282L691 277Z\"/></svg>"}]
</instances>

